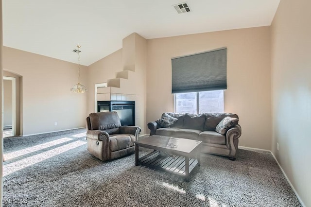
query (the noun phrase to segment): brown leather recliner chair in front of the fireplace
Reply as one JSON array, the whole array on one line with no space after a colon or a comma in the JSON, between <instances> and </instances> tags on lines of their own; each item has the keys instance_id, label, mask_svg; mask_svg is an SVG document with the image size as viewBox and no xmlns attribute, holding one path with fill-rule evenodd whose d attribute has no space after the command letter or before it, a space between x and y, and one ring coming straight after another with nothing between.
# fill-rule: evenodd
<instances>
[{"instance_id":1,"label":"brown leather recliner chair in front of the fireplace","mask_svg":"<svg viewBox=\"0 0 311 207\"><path fill-rule=\"evenodd\" d=\"M91 113L86 118L87 150L105 161L134 153L138 126L121 126L117 112Z\"/></svg>"}]
</instances>

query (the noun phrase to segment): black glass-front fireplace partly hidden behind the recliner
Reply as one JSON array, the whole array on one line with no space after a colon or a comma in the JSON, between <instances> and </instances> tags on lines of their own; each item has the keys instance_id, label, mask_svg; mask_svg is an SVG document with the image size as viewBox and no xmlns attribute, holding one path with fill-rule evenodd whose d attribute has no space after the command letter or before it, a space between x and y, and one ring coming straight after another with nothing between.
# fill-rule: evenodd
<instances>
[{"instance_id":1,"label":"black glass-front fireplace partly hidden behind the recliner","mask_svg":"<svg viewBox=\"0 0 311 207\"><path fill-rule=\"evenodd\" d=\"M97 112L105 111L116 111L122 126L135 126L135 101L98 101Z\"/></svg>"}]
</instances>

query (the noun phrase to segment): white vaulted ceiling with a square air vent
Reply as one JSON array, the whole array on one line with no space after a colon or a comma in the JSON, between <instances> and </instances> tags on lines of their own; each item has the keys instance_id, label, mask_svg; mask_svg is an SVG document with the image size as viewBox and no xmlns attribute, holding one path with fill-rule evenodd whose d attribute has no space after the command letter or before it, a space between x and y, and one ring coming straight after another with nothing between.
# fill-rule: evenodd
<instances>
[{"instance_id":1,"label":"white vaulted ceiling with a square air vent","mask_svg":"<svg viewBox=\"0 0 311 207\"><path fill-rule=\"evenodd\" d=\"M122 48L134 32L146 39L270 25L280 0L2 0L3 45L90 65Z\"/></svg>"}]
</instances>

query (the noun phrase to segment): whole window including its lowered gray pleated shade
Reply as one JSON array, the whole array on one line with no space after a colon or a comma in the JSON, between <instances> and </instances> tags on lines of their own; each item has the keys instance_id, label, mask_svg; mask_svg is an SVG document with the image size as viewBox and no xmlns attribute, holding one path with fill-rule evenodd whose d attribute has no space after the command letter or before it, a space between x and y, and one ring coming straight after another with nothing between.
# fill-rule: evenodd
<instances>
[{"instance_id":1,"label":"whole window including its lowered gray pleated shade","mask_svg":"<svg viewBox=\"0 0 311 207\"><path fill-rule=\"evenodd\" d=\"M222 113L227 89L227 48L172 58L176 113Z\"/></svg>"}]
</instances>

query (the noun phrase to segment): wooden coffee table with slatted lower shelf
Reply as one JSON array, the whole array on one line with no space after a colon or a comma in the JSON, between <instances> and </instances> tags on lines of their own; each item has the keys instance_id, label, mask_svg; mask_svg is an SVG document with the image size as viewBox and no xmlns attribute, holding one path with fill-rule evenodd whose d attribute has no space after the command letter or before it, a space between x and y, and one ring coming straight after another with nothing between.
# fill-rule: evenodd
<instances>
[{"instance_id":1,"label":"wooden coffee table with slatted lower shelf","mask_svg":"<svg viewBox=\"0 0 311 207\"><path fill-rule=\"evenodd\" d=\"M141 164L157 170L175 173L184 176L185 181L189 182L190 173L201 164L201 142L159 135L140 139L134 142L135 165ZM155 151L139 158L138 147L154 149Z\"/></svg>"}]
</instances>

